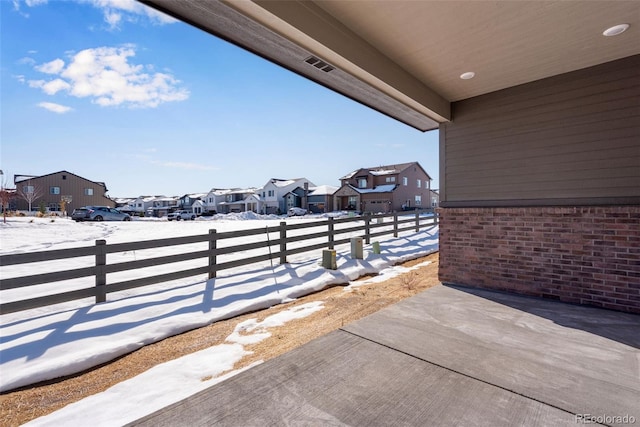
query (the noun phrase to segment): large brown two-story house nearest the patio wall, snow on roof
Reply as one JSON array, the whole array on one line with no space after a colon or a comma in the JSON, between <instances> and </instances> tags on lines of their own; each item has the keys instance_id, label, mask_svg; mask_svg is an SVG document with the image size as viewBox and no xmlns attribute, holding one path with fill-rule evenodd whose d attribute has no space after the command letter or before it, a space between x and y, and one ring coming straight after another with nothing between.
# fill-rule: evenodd
<instances>
[{"instance_id":1,"label":"large brown two-story house nearest the patio wall, snow on roof","mask_svg":"<svg viewBox=\"0 0 640 427\"><path fill-rule=\"evenodd\" d=\"M431 177L418 162L361 168L340 181L337 210L394 212L431 205Z\"/></svg>"}]
</instances>

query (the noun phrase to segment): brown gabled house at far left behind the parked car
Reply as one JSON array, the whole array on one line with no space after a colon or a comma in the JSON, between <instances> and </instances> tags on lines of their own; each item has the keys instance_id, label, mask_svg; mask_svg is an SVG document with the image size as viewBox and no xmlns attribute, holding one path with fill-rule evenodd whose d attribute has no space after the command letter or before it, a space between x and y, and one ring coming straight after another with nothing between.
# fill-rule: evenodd
<instances>
[{"instance_id":1,"label":"brown gabled house at far left behind the parked car","mask_svg":"<svg viewBox=\"0 0 640 427\"><path fill-rule=\"evenodd\" d=\"M14 175L17 210L37 210L44 205L51 212L71 212L82 206L115 207L104 182L91 181L68 171L48 175ZM61 212L64 214L64 212Z\"/></svg>"}]
</instances>

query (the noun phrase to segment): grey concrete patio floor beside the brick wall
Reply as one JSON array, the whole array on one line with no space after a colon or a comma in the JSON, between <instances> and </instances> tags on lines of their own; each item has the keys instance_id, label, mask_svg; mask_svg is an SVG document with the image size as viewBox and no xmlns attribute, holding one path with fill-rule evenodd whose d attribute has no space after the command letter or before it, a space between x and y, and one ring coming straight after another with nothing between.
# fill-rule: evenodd
<instances>
[{"instance_id":1,"label":"grey concrete patio floor beside the brick wall","mask_svg":"<svg viewBox=\"0 0 640 427\"><path fill-rule=\"evenodd\" d=\"M639 349L639 315L442 285L132 425L640 425Z\"/></svg>"}]
</instances>

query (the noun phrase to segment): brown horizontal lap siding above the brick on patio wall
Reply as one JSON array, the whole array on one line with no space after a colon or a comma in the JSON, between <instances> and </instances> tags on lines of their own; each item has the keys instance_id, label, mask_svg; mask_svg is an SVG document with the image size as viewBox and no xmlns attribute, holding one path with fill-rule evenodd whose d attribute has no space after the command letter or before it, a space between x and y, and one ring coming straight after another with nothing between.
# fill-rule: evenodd
<instances>
[{"instance_id":1,"label":"brown horizontal lap siding above the brick on patio wall","mask_svg":"<svg viewBox=\"0 0 640 427\"><path fill-rule=\"evenodd\" d=\"M640 56L456 102L442 206L640 203Z\"/></svg>"}]
</instances>

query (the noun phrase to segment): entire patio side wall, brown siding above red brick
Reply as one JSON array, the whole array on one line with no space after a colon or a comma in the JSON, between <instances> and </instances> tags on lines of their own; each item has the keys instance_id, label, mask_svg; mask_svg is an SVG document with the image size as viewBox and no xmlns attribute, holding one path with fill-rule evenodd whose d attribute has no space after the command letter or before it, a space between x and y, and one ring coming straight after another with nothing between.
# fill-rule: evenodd
<instances>
[{"instance_id":1,"label":"entire patio side wall, brown siding above red brick","mask_svg":"<svg viewBox=\"0 0 640 427\"><path fill-rule=\"evenodd\" d=\"M640 56L457 102L440 280L640 312Z\"/></svg>"}]
</instances>

